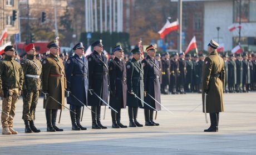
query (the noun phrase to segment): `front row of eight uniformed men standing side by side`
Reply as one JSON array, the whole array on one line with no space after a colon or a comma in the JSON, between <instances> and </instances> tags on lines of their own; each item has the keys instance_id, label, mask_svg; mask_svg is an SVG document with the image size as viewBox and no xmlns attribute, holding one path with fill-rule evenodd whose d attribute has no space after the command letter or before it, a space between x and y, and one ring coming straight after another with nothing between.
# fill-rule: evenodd
<instances>
[{"instance_id":1,"label":"front row of eight uniformed men standing side by side","mask_svg":"<svg viewBox=\"0 0 256 155\"><path fill-rule=\"evenodd\" d=\"M160 110L160 69L154 59L155 48L150 45L147 58L142 61L139 48L132 50L133 58L126 65L121 58L124 54L121 46L112 51L115 59L108 66L106 56L102 54L102 40L92 44L93 53L86 59L82 43L73 47L75 55L68 58L64 67L58 57L57 40L48 43L48 58L42 61L35 58L35 46L31 43L25 47L27 58L21 65L14 61L15 49L7 46L5 58L0 63L0 95L3 98L2 133L17 134L13 129L18 96L23 95L23 115L25 132L40 132L35 127L35 111L41 92L45 96L43 108L46 110L47 131L63 131L56 126L57 111L65 108L65 91L70 104L72 130L86 130L80 123L81 111L84 106L91 106L92 128L107 128L101 124L101 106L111 108L112 127L125 128L122 125L121 108L128 106L130 127L141 127L137 121L138 108L144 108L145 125L159 125L153 121L154 110ZM108 87L110 86L110 104ZM145 98L144 98L145 97ZM158 103L158 104L156 104ZM67 108L67 107L66 107ZM61 117L60 111L60 117Z\"/></svg>"}]
</instances>

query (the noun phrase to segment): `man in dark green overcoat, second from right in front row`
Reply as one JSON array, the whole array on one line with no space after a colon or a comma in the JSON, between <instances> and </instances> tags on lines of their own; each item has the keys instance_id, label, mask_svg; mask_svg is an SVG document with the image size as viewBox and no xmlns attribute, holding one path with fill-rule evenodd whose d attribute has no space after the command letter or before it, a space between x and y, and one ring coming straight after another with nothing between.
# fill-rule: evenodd
<instances>
[{"instance_id":1,"label":"man in dark green overcoat, second from right in front row","mask_svg":"<svg viewBox=\"0 0 256 155\"><path fill-rule=\"evenodd\" d=\"M141 59L141 51L139 48L131 50L133 58L126 64L127 71L127 106L130 124L129 127L142 127L137 122L138 108L144 106L144 82L143 82L143 66L139 61ZM136 96L141 100L137 99Z\"/></svg>"}]
</instances>

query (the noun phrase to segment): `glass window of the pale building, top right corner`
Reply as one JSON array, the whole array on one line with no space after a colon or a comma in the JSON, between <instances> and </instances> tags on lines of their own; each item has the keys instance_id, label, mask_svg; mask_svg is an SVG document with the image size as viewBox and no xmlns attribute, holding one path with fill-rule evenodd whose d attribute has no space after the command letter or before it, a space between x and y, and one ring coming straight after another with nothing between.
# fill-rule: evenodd
<instances>
[{"instance_id":1,"label":"glass window of the pale building, top right corner","mask_svg":"<svg viewBox=\"0 0 256 155\"><path fill-rule=\"evenodd\" d=\"M240 0L234 1L234 22L239 22ZM241 22L256 22L256 1L241 1Z\"/></svg>"}]
</instances>

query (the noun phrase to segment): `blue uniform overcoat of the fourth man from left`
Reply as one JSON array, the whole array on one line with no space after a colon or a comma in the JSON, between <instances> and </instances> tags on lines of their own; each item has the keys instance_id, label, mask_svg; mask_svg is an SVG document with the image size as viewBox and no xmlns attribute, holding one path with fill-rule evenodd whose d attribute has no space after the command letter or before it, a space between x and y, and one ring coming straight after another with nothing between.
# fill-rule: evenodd
<instances>
[{"instance_id":1,"label":"blue uniform overcoat of the fourth man from left","mask_svg":"<svg viewBox=\"0 0 256 155\"><path fill-rule=\"evenodd\" d=\"M75 106L87 106L87 91L88 91L88 61L77 54L68 58L65 66L67 77L67 90L71 91L67 97L67 104ZM75 97L80 101L78 101Z\"/></svg>"}]
</instances>

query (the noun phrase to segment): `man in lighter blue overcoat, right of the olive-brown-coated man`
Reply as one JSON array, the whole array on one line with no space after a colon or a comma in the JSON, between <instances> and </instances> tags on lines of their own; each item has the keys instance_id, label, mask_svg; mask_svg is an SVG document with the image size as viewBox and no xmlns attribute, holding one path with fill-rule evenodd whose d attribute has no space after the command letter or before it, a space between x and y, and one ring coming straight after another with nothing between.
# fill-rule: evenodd
<instances>
[{"instance_id":1,"label":"man in lighter blue overcoat, right of the olive-brown-coated man","mask_svg":"<svg viewBox=\"0 0 256 155\"><path fill-rule=\"evenodd\" d=\"M88 62L83 56L83 49L82 43L76 44L73 47L75 55L68 58L65 66L67 91L70 94L67 96L67 104L76 112L70 112L72 130L86 130L80 124L81 107L87 106L88 91Z\"/></svg>"}]
</instances>

